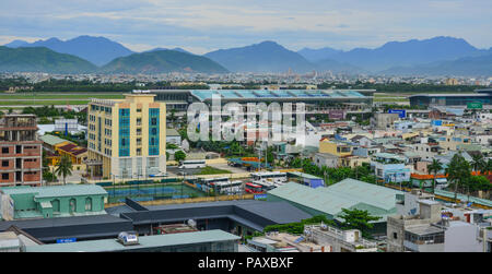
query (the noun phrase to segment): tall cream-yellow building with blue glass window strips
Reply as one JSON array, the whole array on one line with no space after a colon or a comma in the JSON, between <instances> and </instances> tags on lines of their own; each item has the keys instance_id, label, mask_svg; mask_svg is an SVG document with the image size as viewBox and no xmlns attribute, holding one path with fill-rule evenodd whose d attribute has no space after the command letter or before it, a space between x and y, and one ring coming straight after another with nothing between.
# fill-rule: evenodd
<instances>
[{"instance_id":1,"label":"tall cream-yellow building with blue glass window strips","mask_svg":"<svg viewBox=\"0 0 492 274\"><path fill-rule=\"evenodd\" d=\"M166 170L166 106L153 94L92 99L87 108L87 168L107 179Z\"/></svg>"}]
</instances>

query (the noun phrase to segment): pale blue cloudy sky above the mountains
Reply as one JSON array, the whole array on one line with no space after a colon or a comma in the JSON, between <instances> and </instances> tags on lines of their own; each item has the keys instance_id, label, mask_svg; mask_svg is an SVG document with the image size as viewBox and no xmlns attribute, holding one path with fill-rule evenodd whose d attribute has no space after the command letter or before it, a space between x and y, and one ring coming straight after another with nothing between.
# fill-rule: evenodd
<instances>
[{"instance_id":1,"label":"pale blue cloudy sky above the mountains","mask_svg":"<svg viewBox=\"0 0 492 274\"><path fill-rule=\"evenodd\" d=\"M274 40L376 48L435 36L492 47L491 0L0 0L0 45L104 36L134 51L195 53Z\"/></svg>"}]
</instances>

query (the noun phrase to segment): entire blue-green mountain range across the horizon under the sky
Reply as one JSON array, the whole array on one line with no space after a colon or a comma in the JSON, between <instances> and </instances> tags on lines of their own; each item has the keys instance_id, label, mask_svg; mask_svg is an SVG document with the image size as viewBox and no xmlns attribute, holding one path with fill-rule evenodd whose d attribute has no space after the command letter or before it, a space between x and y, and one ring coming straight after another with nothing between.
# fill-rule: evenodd
<instances>
[{"instance_id":1,"label":"entire blue-green mountain range across the horizon under the sky","mask_svg":"<svg viewBox=\"0 0 492 274\"><path fill-rule=\"evenodd\" d=\"M58 53L84 59L95 64L93 71L105 73L172 71L279 73L292 70L296 73L332 71L348 74L492 75L487 61L492 56L492 48L478 49L465 39L444 36L423 40L389 41L374 49L354 48L347 51L331 47L303 48L293 51L274 41L262 41L245 47L219 49L203 56L194 55L181 48L154 48L138 53L116 41L92 36L80 36L66 41L50 38L31 44L14 40L4 46L14 49L45 47ZM39 61L49 62L46 60L46 52L39 51L42 55ZM27 55L27 51L17 53ZM34 57L34 51L28 53ZM56 69L57 63L66 64L61 60L67 60L66 56L58 57L60 60L54 61L51 67L48 67L49 70L63 71L63 68L67 68L65 65ZM0 52L0 60L3 59ZM16 65L12 61L14 60L11 60L10 64L0 62L1 70L12 71L13 68L23 68L23 71L26 71L25 69L28 69L25 62L20 61ZM33 63L32 69L37 71L43 68ZM87 69L89 65L85 64L81 71ZM70 71L77 70L70 69Z\"/></svg>"}]
</instances>

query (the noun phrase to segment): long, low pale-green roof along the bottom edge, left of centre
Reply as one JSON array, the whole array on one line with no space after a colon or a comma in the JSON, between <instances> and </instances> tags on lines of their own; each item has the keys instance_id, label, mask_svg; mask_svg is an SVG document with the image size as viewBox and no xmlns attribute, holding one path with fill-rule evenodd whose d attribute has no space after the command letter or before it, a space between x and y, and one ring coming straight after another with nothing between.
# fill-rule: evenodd
<instances>
[{"instance_id":1,"label":"long, low pale-green roof along the bottom edge, left of centre","mask_svg":"<svg viewBox=\"0 0 492 274\"><path fill-rule=\"evenodd\" d=\"M190 245L200 242L235 241L241 239L235 235L215 229L184 234L167 234L139 237L139 245L122 246L116 239L79 241L26 247L26 252L107 252L142 248L159 248L167 246Z\"/></svg>"}]
</instances>

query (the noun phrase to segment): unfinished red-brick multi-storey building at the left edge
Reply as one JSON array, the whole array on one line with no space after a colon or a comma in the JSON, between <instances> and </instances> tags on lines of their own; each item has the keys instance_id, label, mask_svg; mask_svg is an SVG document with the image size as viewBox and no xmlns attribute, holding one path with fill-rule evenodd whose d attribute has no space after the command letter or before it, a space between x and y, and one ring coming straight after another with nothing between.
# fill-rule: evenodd
<instances>
[{"instance_id":1,"label":"unfinished red-brick multi-storey building at the left edge","mask_svg":"<svg viewBox=\"0 0 492 274\"><path fill-rule=\"evenodd\" d=\"M43 142L36 138L34 115L5 115L0 119L0 187L43 182Z\"/></svg>"}]
</instances>

